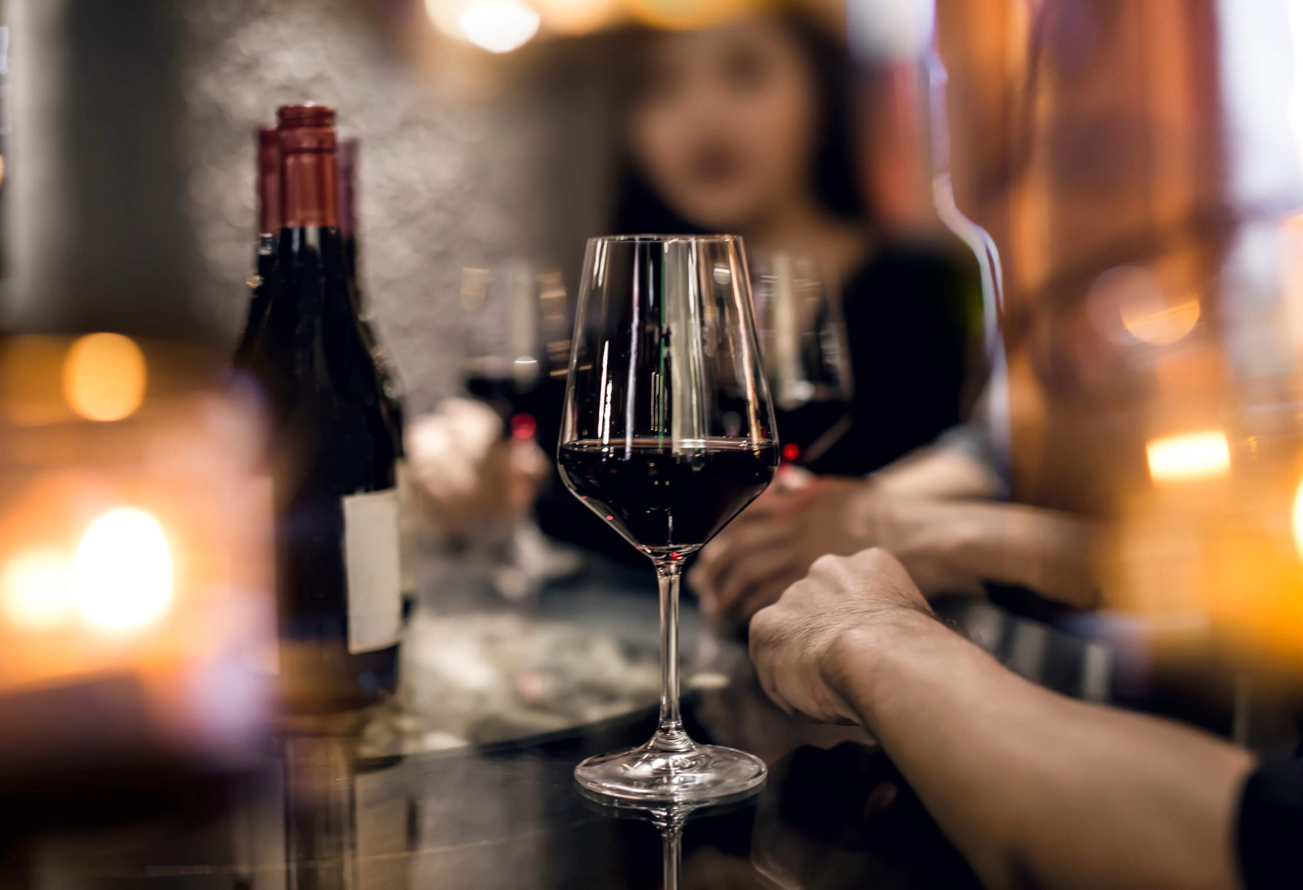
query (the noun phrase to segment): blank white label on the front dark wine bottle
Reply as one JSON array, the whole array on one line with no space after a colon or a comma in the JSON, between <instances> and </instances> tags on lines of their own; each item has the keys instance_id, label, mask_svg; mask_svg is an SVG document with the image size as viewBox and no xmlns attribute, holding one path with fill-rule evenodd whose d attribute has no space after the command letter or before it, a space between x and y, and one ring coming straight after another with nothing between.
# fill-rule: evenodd
<instances>
[{"instance_id":1,"label":"blank white label on the front dark wine bottle","mask_svg":"<svg viewBox=\"0 0 1303 890\"><path fill-rule=\"evenodd\" d=\"M348 566L348 650L371 652L399 641L399 494L396 489L344 498Z\"/></svg>"}]
</instances>

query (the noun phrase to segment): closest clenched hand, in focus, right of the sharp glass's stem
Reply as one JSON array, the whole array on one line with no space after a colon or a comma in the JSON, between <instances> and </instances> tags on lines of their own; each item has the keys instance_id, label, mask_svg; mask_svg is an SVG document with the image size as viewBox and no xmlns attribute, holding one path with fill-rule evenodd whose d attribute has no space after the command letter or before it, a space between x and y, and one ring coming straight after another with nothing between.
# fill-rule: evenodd
<instances>
[{"instance_id":1,"label":"closest clenched hand, in focus, right of the sharp glass's stem","mask_svg":"<svg viewBox=\"0 0 1303 890\"><path fill-rule=\"evenodd\" d=\"M810 573L751 622L751 657L761 688L788 713L856 723L838 692L839 644L857 631L930 615L904 567L883 550L822 556Z\"/></svg>"}]
</instances>

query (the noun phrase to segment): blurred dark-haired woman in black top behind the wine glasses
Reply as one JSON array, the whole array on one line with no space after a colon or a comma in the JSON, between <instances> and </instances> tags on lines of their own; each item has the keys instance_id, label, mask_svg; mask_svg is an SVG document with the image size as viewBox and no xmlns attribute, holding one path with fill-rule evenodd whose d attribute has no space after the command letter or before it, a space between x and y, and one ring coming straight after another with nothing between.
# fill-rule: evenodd
<instances>
[{"instance_id":1,"label":"blurred dark-haired woman in black top behind the wine glasses","mask_svg":"<svg viewBox=\"0 0 1303 890\"><path fill-rule=\"evenodd\" d=\"M809 468L863 476L956 423L979 272L971 258L968 268L874 225L855 176L852 69L840 43L771 13L637 34L622 57L612 232L730 232L752 257L800 257L844 321L850 426ZM779 430L807 440L822 433ZM641 560L576 507L554 485L543 529Z\"/></svg>"}]
</instances>

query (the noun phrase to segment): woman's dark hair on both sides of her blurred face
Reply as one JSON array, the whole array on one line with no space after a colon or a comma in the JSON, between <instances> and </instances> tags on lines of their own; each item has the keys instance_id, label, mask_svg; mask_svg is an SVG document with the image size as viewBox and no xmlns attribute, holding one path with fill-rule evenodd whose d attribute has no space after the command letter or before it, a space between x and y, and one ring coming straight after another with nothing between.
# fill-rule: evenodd
<instances>
[{"instance_id":1,"label":"woman's dark hair on both sides of her blurred face","mask_svg":"<svg viewBox=\"0 0 1303 890\"><path fill-rule=\"evenodd\" d=\"M778 14L783 27L795 38L814 74L814 89L820 99L820 133L814 146L812 185L820 205L829 212L847 220L870 222L859 177L855 172L853 128L851 102L853 70L846 47L820 26L795 12ZM638 31L629 35L631 46L622 59L638 57L636 44L654 39L655 33ZM632 70L623 72L625 95L633 91ZM622 139L622 145L624 145ZM646 177L629 156L628 147L619 165L612 233L638 235L645 232L700 232L674 211L652 188Z\"/></svg>"}]
</instances>

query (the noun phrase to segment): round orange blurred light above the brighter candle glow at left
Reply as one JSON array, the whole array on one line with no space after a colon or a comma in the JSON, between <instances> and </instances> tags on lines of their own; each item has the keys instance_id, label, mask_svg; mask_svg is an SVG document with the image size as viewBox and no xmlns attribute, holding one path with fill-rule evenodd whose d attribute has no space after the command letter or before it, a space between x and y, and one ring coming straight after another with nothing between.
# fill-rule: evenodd
<instances>
[{"instance_id":1,"label":"round orange blurred light above the brighter candle glow at left","mask_svg":"<svg viewBox=\"0 0 1303 890\"><path fill-rule=\"evenodd\" d=\"M64 360L64 399L91 421L130 417L145 400L145 353L121 334L87 334Z\"/></svg>"}]
</instances>

